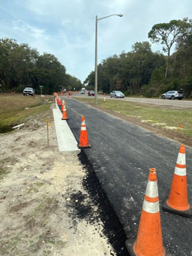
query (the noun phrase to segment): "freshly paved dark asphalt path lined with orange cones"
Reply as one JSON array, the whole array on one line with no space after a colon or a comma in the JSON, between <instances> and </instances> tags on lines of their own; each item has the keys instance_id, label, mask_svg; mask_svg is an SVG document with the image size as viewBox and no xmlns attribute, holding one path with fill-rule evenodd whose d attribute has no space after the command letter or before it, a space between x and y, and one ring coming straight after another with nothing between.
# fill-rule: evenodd
<instances>
[{"instance_id":1,"label":"freshly paved dark asphalt path lined with orange cones","mask_svg":"<svg viewBox=\"0 0 192 256\"><path fill-rule=\"evenodd\" d=\"M137 235L149 168L157 169L160 208L170 191L180 144L65 98L68 125L79 140L84 115L91 148L84 149L124 226L127 238ZM78 114L77 114L78 113ZM192 204L192 148L186 148L188 201ZM162 211L164 246L174 256L192 255L192 218Z\"/></svg>"}]
</instances>

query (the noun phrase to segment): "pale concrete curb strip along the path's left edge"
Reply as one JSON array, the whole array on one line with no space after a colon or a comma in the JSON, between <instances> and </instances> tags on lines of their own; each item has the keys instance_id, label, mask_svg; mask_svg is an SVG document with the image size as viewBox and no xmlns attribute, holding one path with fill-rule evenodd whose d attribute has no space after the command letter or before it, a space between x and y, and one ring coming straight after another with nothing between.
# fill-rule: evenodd
<instances>
[{"instance_id":1,"label":"pale concrete curb strip along the path's left edge","mask_svg":"<svg viewBox=\"0 0 192 256\"><path fill-rule=\"evenodd\" d=\"M61 111L58 108L53 108L53 116L55 122L55 131L58 139L58 150L62 153L80 153L81 149L78 148L78 142L74 138L71 129L66 120L61 120Z\"/></svg>"}]
</instances>

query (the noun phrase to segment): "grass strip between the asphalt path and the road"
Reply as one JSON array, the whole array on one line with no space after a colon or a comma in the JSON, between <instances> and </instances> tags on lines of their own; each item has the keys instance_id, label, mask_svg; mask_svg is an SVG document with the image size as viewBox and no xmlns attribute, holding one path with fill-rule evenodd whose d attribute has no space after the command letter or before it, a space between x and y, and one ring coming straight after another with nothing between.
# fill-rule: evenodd
<instances>
[{"instance_id":1,"label":"grass strip between the asphalt path and the road","mask_svg":"<svg viewBox=\"0 0 192 256\"><path fill-rule=\"evenodd\" d=\"M76 98L94 105L93 98ZM128 101L108 100L104 102L98 99L98 106L107 108L111 111L121 113L125 116L138 118L142 122L150 125L157 125L163 129L172 129L192 138L192 113L186 109L172 109L160 107L148 107Z\"/></svg>"}]
</instances>

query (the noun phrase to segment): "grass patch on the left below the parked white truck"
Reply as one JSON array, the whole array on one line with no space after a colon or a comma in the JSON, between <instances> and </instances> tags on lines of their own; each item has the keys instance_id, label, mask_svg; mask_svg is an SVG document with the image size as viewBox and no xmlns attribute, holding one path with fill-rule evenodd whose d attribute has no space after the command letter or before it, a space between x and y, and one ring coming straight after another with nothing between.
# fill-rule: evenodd
<instances>
[{"instance_id":1,"label":"grass patch on the left below the parked white truck","mask_svg":"<svg viewBox=\"0 0 192 256\"><path fill-rule=\"evenodd\" d=\"M28 116L48 110L51 102L51 96L0 94L0 132L11 131L12 126L25 121Z\"/></svg>"}]
</instances>

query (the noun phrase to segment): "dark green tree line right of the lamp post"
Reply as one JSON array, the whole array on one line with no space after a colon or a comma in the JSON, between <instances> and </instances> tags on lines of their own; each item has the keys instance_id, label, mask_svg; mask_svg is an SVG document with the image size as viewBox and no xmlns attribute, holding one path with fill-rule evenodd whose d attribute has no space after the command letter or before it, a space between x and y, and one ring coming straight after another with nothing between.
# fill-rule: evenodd
<instances>
[{"instance_id":1,"label":"dark green tree line right of the lamp post","mask_svg":"<svg viewBox=\"0 0 192 256\"><path fill-rule=\"evenodd\" d=\"M148 38L160 43L164 54L152 52L150 42L136 42L131 52L104 59L98 65L98 90L159 97L165 91L182 89L185 97L192 98L192 20L156 24ZM84 85L94 88L94 71Z\"/></svg>"}]
</instances>

